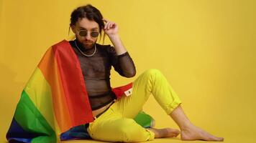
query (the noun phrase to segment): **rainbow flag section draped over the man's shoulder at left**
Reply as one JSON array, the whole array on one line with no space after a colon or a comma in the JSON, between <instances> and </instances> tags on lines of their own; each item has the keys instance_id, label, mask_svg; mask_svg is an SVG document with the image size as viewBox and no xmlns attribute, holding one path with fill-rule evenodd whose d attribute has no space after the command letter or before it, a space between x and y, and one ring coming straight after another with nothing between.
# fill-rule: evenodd
<instances>
[{"instance_id":1,"label":"rainbow flag section draped over the man's shoulder at left","mask_svg":"<svg viewBox=\"0 0 256 143\"><path fill-rule=\"evenodd\" d=\"M63 40L46 51L24 87L6 138L57 142L60 133L92 121L81 66Z\"/></svg>"}]
</instances>

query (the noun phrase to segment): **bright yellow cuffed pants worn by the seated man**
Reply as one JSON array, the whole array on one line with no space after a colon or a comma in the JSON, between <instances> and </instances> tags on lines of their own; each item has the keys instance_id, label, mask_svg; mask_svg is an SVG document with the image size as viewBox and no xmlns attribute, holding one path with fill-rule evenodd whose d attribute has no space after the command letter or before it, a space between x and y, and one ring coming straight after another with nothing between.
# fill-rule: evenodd
<instances>
[{"instance_id":1,"label":"bright yellow cuffed pants worn by the seated man","mask_svg":"<svg viewBox=\"0 0 256 143\"><path fill-rule=\"evenodd\" d=\"M150 94L167 114L181 103L163 74L157 69L148 69L133 82L132 94L116 100L104 114L91 122L88 133L93 139L106 142L145 142L154 139L153 132L133 119L142 111Z\"/></svg>"}]
</instances>

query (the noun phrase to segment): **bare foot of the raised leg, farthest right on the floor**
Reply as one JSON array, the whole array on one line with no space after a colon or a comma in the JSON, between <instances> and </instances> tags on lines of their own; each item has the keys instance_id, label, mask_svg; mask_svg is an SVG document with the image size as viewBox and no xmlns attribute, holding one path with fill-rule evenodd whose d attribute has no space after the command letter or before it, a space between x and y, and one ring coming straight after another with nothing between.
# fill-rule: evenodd
<instances>
[{"instance_id":1,"label":"bare foot of the raised leg, farthest right on the floor","mask_svg":"<svg viewBox=\"0 0 256 143\"><path fill-rule=\"evenodd\" d=\"M181 140L191 141L191 140L205 140L205 141L224 141L223 137L215 137L208 132L205 132L203 129L200 129L193 124L191 124L186 129L181 129L180 131Z\"/></svg>"}]
</instances>

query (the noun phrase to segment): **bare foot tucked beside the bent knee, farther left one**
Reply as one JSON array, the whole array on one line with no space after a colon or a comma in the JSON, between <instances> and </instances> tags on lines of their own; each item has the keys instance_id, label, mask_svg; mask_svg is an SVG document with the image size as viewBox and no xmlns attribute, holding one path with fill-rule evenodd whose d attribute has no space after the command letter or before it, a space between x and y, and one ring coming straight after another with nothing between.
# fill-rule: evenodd
<instances>
[{"instance_id":1,"label":"bare foot tucked beside the bent knee, farther left one","mask_svg":"<svg viewBox=\"0 0 256 143\"><path fill-rule=\"evenodd\" d=\"M148 129L155 133L155 138L177 137L178 134L180 134L180 131L178 129L170 129L170 128L163 128L163 129L148 128Z\"/></svg>"}]
</instances>

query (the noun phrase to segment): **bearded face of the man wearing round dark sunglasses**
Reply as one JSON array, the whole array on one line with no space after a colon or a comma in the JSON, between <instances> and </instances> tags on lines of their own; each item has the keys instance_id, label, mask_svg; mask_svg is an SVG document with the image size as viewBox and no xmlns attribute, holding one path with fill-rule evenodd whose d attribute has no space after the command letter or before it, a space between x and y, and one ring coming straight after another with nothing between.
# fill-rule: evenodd
<instances>
[{"instance_id":1,"label":"bearded face of the man wearing round dark sunglasses","mask_svg":"<svg viewBox=\"0 0 256 143\"><path fill-rule=\"evenodd\" d=\"M99 32L99 24L96 21L90 21L86 18L79 19L76 25L73 25L71 28L76 34L76 39L83 44L84 48L91 49L96 43L98 36L93 36L93 34L95 35L96 32Z\"/></svg>"}]
</instances>

